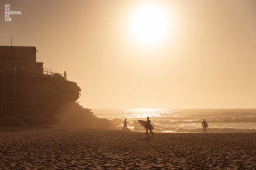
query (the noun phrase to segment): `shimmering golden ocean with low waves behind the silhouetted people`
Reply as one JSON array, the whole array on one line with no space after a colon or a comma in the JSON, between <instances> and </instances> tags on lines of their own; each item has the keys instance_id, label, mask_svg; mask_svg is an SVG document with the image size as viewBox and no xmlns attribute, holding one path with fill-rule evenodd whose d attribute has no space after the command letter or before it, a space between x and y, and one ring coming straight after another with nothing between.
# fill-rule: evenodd
<instances>
[{"instance_id":1,"label":"shimmering golden ocean with low waves behind the silhouetted people","mask_svg":"<svg viewBox=\"0 0 256 170\"><path fill-rule=\"evenodd\" d=\"M124 118L132 131L144 131L138 120L150 117L155 132L202 132L206 120L207 132L256 132L256 109L128 109L92 110L100 118L113 120L122 129Z\"/></svg>"}]
</instances>

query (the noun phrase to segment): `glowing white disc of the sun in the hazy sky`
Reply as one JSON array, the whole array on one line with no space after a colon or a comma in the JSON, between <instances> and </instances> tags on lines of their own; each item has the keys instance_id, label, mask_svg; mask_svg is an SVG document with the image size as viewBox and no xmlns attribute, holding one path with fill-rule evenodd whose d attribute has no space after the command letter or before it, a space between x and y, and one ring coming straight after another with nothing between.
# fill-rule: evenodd
<instances>
[{"instance_id":1,"label":"glowing white disc of the sun in the hazy sky","mask_svg":"<svg viewBox=\"0 0 256 170\"><path fill-rule=\"evenodd\" d=\"M170 29L168 13L156 4L140 6L130 20L132 36L143 45L159 43Z\"/></svg>"}]
</instances>

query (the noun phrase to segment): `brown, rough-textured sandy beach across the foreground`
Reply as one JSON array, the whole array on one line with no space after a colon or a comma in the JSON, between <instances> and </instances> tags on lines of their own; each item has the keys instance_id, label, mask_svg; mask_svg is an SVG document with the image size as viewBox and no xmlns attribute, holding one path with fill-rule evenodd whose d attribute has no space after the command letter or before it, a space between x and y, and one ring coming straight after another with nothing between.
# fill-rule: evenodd
<instances>
[{"instance_id":1,"label":"brown, rough-textured sandy beach across the foreground","mask_svg":"<svg viewBox=\"0 0 256 170\"><path fill-rule=\"evenodd\" d=\"M256 133L0 129L0 169L253 169Z\"/></svg>"}]
</instances>

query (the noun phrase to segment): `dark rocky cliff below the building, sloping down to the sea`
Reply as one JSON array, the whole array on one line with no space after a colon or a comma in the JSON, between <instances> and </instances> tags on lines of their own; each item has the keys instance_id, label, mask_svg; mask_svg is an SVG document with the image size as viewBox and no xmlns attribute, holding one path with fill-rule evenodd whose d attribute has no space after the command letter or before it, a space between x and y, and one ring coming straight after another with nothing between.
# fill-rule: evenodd
<instances>
[{"instance_id":1,"label":"dark rocky cliff below the building, sloping down to the sea","mask_svg":"<svg viewBox=\"0 0 256 170\"><path fill-rule=\"evenodd\" d=\"M59 74L17 74L16 106L10 102L14 101L15 96L15 76L0 76L0 126L61 124L110 127L108 120L95 117L90 110L76 103L81 89L75 82L67 81Z\"/></svg>"}]
</instances>

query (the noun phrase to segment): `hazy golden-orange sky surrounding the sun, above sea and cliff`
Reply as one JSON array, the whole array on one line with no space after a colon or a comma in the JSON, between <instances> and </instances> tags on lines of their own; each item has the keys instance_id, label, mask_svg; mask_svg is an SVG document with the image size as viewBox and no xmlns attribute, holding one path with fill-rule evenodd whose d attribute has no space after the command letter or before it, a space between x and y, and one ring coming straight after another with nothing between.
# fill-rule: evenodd
<instances>
[{"instance_id":1,"label":"hazy golden-orange sky surrounding the sun, above sea and cliff","mask_svg":"<svg viewBox=\"0 0 256 170\"><path fill-rule=\"evenodd\" d=\"M4 22L4 4L22 15ZM168 27L145 43L131 18L148 4ZM256 108L253 0L1 0L0 45L10 36L13 45L36 46L45 68L67 71L86 108Z\"/></svg>"}]
</instances>

